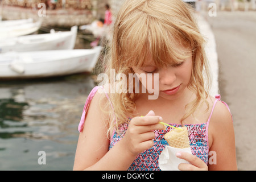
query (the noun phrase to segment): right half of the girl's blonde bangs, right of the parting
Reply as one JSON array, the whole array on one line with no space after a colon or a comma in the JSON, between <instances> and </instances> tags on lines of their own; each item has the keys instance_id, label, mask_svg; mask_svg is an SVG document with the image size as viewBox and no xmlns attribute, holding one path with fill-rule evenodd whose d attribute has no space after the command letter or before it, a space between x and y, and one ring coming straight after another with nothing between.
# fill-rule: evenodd
<instances>
[{"instance_id":1,"label":"right half of the girl's blonde bangs, right of the parting","mask_svg":"<svg viewBox=\"0 0 256 182\"><path fill-rule=\"evenodd\" d=\"M151 18L147 41L152 60L158 67L179 64L192 55L191 46L180 31L155 18Z\"/></svg>"}]
</instances>

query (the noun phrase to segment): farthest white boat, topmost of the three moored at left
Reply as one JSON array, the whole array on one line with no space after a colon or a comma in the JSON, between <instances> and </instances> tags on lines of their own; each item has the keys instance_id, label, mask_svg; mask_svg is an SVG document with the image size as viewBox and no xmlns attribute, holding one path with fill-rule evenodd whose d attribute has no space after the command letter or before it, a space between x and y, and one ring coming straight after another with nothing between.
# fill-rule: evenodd
<instances>
[{"instance_id":1,"label":"farthest white boat, topmost of the three moored at left","mask_svg":"<svg viewBox=\"0 0 256 182\"><path fill-rule=\"evenodd\" d=\"M32 34L40 28L42 22L28 22L0 28L0 39L14 38L16 36Z\"/></svg>"}]
</instances>

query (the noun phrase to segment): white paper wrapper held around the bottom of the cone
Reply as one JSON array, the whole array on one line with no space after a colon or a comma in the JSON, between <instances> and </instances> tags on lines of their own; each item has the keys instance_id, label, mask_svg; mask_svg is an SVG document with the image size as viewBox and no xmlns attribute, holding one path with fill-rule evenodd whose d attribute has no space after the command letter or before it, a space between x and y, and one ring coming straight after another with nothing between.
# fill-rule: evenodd
<instances>
[{"instance_id":1,"label":"white paper wrapper held around the bottom of the cone","mask_svg":"<svg viewBox=\"0 0 256 182\"><path fill-rule=\"evenodd\" d=\"M187 163L187 160L179 159L176 157L177 152L188 152L191 153L191 148L174 148L166 146L162 153L159 155L159 167L162 171L179 171L178 166L180 163Z\"/></svg>"}]
</instances>

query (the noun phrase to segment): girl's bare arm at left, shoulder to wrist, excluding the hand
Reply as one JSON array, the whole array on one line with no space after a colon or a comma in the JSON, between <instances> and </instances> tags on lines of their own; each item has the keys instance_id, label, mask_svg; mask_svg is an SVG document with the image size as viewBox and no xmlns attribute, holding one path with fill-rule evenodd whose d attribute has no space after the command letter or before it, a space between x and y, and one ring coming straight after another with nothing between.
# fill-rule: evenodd
<instances>
[{"instance_id":1,"label":"girl's bare arm at left, shoulder to wrist, excluding the hand","mask_svg":"<svg viewBox=\"0 0 256 182\"><path fill-rule=\"evenodd\" d=\"M105 98L101 100L100 97L101 93L97 92L86 112L84 128L77 143L74 170L114 170L121 169L122 166L127 168L132 163L133 156L127 156L121 145L108 152L109 123L100 108L103 106L101 103L109 101ZM127 158L121 155L126 155Z\"/></svg>"}]
</instances>

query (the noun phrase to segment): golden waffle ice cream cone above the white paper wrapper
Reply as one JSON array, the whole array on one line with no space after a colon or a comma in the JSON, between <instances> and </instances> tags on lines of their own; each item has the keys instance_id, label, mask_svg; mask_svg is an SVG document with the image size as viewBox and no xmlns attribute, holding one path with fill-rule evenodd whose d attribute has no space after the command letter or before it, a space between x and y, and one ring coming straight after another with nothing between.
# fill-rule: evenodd
<instances>
[{"instance_id":1,"label":"golden waffle ice cream cone above the white paper wrapper","mask_svg":"<svg viewBox=\"0 0 256 182\"><path fill-rule=\"evenodd\" d=\"M174 129L164 135L164 139L171 147L174 148L188 148L189 138L187 127L181 127L182 130Z\"/></svg>"}]
</instances>

